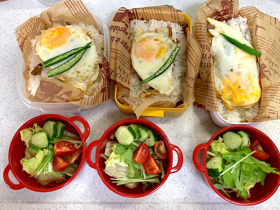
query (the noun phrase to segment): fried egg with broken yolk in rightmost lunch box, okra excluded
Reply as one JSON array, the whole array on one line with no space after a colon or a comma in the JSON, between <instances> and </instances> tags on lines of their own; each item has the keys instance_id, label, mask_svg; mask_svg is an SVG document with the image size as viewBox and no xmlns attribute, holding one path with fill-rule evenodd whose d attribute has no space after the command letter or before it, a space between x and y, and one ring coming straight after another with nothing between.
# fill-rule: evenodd
<instances>
[{"instance_id":1,"label":"fried egg with broken yolk in rightmost lunch box, okra excluded","mask_svg":"<svg viewBox=\"0 0 280 210\"><path fill-rule=\"evenodd\" d=\"M213 36L210 52L214 59L217 97L230 110L235 107L253 106L260 100L261 95L257 58L227 41L221 33L250 47L252 47L251 44L244 38L241 31L211 18L207 18L207 21L215 26L215 29L208 31Z\"/></svg>"}]
</instances>

